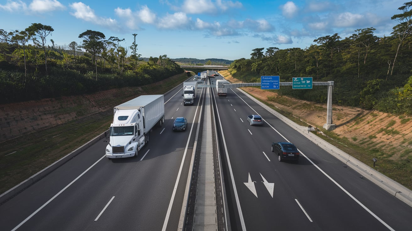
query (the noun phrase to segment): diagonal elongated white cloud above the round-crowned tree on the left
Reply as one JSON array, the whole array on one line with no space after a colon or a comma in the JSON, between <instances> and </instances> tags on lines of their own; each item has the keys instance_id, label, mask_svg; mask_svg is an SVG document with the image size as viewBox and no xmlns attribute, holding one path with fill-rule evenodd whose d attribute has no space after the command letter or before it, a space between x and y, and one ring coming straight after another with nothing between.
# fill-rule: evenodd
<instances>
[{"instance_id":1,"label":"diagonal elongated white cloud above the round-crowned tree on the left","mask_svg":"<svg viewBox=\"0 0 412 231\"><path fill-rule=\"evenodd\" d=\"M109 27L112 30L118 30L115 19L107 19L96 16L96 14L94 14L94 10L82 2L75 2L73 4L70 4L70 7L75 10L74 13L70 14L75 16L77 19L82 19L96 25Z\"/></svg>"}]
</instances>

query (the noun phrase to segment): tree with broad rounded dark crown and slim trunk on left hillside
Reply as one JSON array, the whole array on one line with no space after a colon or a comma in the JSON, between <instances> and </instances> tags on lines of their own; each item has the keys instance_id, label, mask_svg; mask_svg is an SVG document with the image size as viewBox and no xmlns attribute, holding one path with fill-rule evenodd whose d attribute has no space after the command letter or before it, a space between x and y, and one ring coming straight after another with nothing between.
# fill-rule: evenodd
<instances>
[{"instance_id":1,"label":"tree with broad rounded dark crown and slim trunk on left hillside","mask_svg":"<svg viewBox=\"0 0 412 231\"><path fill-rule=\"evenodd\" d=\"M99 31L86 30L79 35L79 38L83 38L82 47L92 55L92 60L94 57L97 80L97 54L100 54L103 51L105 47L103 40L106 36Z\"/></svg>"}]
</instances>

